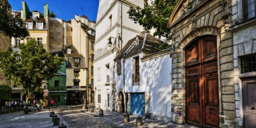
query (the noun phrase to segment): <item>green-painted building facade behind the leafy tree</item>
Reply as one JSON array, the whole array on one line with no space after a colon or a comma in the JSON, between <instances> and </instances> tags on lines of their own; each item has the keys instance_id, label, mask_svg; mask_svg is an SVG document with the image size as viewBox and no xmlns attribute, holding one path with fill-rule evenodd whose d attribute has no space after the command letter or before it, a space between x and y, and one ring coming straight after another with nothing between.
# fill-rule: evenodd
<instances>
[{"instance_id":1,"label":"green-painted building facade behind the leafy tree","mask_svg":"<svg viewBox=\"0 0 256 128\"><path fill-rule=\"evenodd\" d=\"M54 100L54 107L66 105L67 101L67 89L66 89L66 62L63 61L61 69L55 74L52 80L47 81L47 89L49 91L47 100L48 107L51 106L51 99Z\"/></svg>"}]
</instances>

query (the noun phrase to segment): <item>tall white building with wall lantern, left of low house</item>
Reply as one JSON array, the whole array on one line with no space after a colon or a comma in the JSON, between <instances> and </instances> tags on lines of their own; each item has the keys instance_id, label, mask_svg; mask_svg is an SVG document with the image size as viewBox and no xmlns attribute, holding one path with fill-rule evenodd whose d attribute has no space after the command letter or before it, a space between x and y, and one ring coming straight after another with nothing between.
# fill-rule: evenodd
<instances>
[{"instance_id":1,"label":"tall white building with wall lantern, left of low house","mask_svg":"<svg viewBox=\"0 0 256 128\"><path fill-rule=\"evenodd\" d=\"M125 96L123 85L116 88L113 60L128 40L143 31L143 27L130 20L126 13L130 7L143 7L143 4L143 0L99 1L93 61L96 108L117 111L119 93Z\"/></svg>"}]
</instances>

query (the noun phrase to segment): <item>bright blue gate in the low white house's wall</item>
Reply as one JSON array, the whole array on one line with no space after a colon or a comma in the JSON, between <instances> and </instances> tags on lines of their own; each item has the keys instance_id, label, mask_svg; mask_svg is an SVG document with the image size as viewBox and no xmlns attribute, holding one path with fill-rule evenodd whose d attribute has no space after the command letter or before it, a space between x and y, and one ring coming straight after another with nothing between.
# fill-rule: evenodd
<instances>
[{"instance_id":1,"label":"bright blue gate in the low white house's wall","mask_svg":"<svg viewBox=\"0 0 256 128\"><path fill-rule=\"evenodd\" d=\"M131 93L131 114L145 116L145 93Z\"/></svg>"}]
</instances>

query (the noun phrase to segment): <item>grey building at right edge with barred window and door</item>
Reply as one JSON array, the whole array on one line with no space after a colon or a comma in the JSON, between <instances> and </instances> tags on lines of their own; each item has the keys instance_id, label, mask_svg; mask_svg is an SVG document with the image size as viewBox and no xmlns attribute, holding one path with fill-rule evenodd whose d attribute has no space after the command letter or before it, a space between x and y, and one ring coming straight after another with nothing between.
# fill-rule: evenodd
<instances>
[{"instance_id":1,"label":"grey building at right edge with barred window and door","mask_svg":"<svg viewBox=\"0 0 256 128\"><path fill-rule=\"evenodd\" d=\"M232 26L229 31L232 32L232 37L225 41L226 48L223 49L233 51L230 63L226 65L232 69L230 74L234 79L226 80L223 85L234 87L234 95L230 95L229 100L232 101L232 110L235 111L236 127L252 128L256 126L256 2L232 0L230 4Z\"/></svg>"}]
</instances>

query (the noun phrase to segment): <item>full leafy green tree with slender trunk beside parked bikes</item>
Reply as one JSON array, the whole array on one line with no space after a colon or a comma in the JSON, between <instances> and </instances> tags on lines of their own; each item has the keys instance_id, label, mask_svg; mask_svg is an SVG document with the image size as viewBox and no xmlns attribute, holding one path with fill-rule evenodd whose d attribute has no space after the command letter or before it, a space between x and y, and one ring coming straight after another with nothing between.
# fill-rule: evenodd
<instances>
[{"instance_id":1,"label":"full leafy green tree with slender trunk beside parked bikes","mask_svg":"<svg viewBox=\"0 0 256 128\"><path fill-rule=\"evenodd\" d=\"M0 68L4 75L15 85L22 85L26 95L26 104L33 91L41 85L42 81L50 80L59 71L63 58L52 56L40 43L31 39L26 44L21 44L20 54L11 47L0 51ZM18 59L20 56L20 59ZM27 105L26 105L26 114Z\"/></svg>"}]
</instances>

